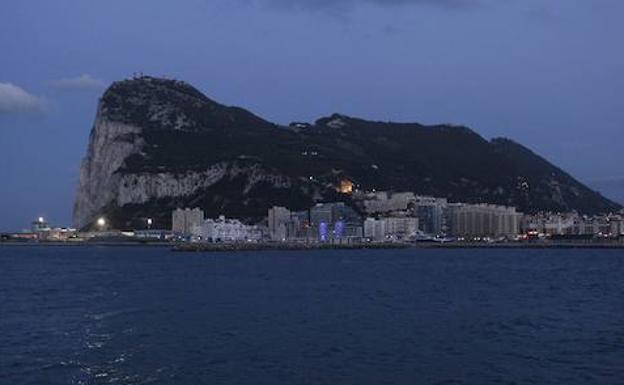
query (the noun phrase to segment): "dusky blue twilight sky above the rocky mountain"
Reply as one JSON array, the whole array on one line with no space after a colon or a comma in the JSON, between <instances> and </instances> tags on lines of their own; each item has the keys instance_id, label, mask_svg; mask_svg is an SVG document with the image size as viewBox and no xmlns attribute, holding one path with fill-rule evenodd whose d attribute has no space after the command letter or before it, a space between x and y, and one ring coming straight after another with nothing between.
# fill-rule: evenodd
<instances>
[{"instance_id":1,"label":"dusky blue twilight sky above the rocky mountain","mask_svg":"<svg viewBox=\"0 0 624 385\"><path fill-rule=\"evenodd\" d=\"M620 0L2 0L0 231L70 224L98 96L134 72L277 123L465 124L616 195L623 18Z\"/></svg>"}]
</instances>

